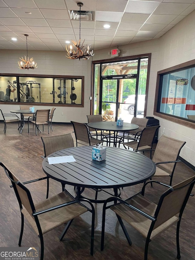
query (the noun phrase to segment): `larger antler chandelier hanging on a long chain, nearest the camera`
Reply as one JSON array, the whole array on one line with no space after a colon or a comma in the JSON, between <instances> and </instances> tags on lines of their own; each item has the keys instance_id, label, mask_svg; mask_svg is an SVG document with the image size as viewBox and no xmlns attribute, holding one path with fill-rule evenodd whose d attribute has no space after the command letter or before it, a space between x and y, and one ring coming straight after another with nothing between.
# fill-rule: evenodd
<instances>
[{"instance_id":1,"label":"larger antler chandelier hanging on a long chain, nearest the camera","mask_svg":"<svg viewBox=\"0 0 195 260\"><path fill-rule=\"evenodd\" d=\"M77 3L77 5L81 8L83 6L83 3ZM79 14L81 14L81 11L79 11ZM85 40L84 40L85 41ZM73 46L70 45L66 46L67 55L66 58L68 59L89 59L90 57L94 56L93 50L90 51L89 45L84 45L84 41L82 44L80 44L80 16L79 16L79 41L73 41Z\"/></svg>"}]
</instances>

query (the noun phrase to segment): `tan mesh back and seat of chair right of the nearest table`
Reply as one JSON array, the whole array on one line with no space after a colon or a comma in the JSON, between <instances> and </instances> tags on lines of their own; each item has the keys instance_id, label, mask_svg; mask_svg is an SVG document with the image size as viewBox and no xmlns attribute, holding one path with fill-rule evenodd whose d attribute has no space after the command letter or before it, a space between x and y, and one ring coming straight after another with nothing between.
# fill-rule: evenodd
<instances>
[{"instance_id":1,"label":"tan mesh back and seat of chair right of the nearest table","mask_svg":"<svg viewBox=\"0 0 195 260\"><path fill-rule=\"evenodd\" d=\"M184 141L176 140L163 134L161 138L158 140L152 161L176 161L179 157L181 148L184 146L185 143L186 142ZM164 163L158 165L158 167L171 174L172 171L175 169L175 165L176 163Z\"/></svg>"}]
</instances>

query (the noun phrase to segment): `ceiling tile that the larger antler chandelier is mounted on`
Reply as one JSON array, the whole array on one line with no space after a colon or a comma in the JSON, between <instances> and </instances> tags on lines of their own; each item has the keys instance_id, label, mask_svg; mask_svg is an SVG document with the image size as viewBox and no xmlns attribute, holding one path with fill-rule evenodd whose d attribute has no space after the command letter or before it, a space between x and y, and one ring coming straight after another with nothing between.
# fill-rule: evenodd
<instances>
[{"instance_id":1,"label":"ceiling tile that the larger antler chandelier is mounted on","mask_svg":"<svg viewBox=\"0 0 195 260\"><path fill-rule=\"evenodd\" d=\"M66 6L68 10L79 10L79 7L77 6L78 2L79 1L75 0L66 0ZM95 11L97 0L84 0L82 2L83 6L81 7L81 11Z\"/></svg>"}]
</instances>

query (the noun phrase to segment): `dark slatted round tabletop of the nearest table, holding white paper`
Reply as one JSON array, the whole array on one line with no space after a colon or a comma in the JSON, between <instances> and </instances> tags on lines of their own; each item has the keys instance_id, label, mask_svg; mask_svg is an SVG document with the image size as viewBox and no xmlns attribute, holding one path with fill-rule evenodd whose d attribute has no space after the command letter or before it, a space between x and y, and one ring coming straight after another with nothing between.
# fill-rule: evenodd
<instances>
[{"instance_id":1,"label":"dark slatted round tabletop of the nearest table, holding white paper","mask_svg":"<svg viewBox=\"0 0 195 260\"><path fill-rule=\"evenodd\" d=\"M106 160L92 160L93 146L69 148L48 157L73 155L76 162L49 164L43 161L47 176L61 183L88 188L118 188L150 179L156 166L150 158L137 152L107 147Z\"/></svg>"}]
</instances>

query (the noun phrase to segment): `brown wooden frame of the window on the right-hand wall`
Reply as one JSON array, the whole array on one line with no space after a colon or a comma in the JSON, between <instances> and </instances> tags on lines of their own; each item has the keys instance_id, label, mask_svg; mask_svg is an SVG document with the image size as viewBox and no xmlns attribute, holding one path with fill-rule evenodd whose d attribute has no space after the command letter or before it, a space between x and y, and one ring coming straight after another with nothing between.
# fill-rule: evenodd
<instances>
[{"instance_id":1,"label":"brown wooden frame of the window on the right-hand wall","mask_svg":"<svg viewBox=\"0 0 195 260\"><path fill-rule=\"evenodd\" d=\"M178 64L176 66L172 66L167 69L163 69L157 72L157 80L156 80L156 91L155 91L155 101L154 101L154 116L158 116L162 119L166 119L168 121L178 123L183 126L190 127L195 129L195 122L190 119L182 118L179 116L169 115L163 112L160 112L160 102L161 102L161 91L162 91L162 77L165 74L180 71L183 69L189 69L191 67L195 67L195 59Z\"/></svg>"}]
</instances>

